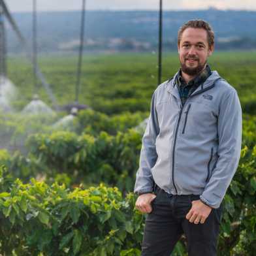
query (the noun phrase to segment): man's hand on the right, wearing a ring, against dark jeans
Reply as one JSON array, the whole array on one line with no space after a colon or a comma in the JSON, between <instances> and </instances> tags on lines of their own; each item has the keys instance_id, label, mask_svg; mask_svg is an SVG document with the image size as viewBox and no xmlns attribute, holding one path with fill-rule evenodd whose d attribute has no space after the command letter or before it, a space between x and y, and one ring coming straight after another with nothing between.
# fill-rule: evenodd
<instances>
[{"instance_id":1,"label":"man's hand on the right, wearing a ring, against dark jeans","mask_svg":"<svg viewBox=\"0 0 256 256\"><path fill-rule=\"evenodd\" d=\"M191 223L203 224L211 212L212 208L204 204L201 200L192 201L192 207L187 213L186 219Z\"/></svg>"}]
</instances>

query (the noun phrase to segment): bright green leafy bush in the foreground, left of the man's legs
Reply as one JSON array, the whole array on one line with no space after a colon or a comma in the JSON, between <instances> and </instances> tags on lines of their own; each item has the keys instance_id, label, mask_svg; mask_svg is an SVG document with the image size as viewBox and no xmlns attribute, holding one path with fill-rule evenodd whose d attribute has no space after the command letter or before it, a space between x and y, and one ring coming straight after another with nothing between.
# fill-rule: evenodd
<instances>
[{"instance_id":1,"label":"bright green leafy bush in the foreground, left of the man's legs","mask_svg":"<svg viewBox=\"0 0 256 256\"><path fill-rule=\"evenodd\" d=\"M116 187L103 184L70 191L14 180L0 193L0 253L139 255L144 217L134 203L132 194L123 199Z\"/></svg>"}]
</instances>

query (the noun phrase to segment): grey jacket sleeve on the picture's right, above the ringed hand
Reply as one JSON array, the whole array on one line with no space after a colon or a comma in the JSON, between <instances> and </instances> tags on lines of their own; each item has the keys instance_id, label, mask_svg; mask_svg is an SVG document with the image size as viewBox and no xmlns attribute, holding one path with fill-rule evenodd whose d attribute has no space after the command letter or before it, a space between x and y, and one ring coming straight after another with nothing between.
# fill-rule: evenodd
<instances>
[{"instance_id":1,"label":"grey jacket sleeve on the picture's right, above the ringed hand","mask_svg":"<svg viewBox=\"0 0 256 256\"><path fill-rule=\"evenodd\" d=\"M219 208L238 167L242 141L242 109L235 89L223 97L217 120L217 163L200 199Z\"/></svg>"}]
</instances>

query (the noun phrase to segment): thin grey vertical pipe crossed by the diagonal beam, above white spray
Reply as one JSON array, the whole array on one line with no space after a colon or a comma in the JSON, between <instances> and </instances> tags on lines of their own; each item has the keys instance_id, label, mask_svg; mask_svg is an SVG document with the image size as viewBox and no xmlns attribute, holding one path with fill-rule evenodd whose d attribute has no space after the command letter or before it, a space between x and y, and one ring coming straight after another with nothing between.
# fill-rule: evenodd
<instances>
[{"instance_id":1,"label":"thin grey vertical pipe crossed by the diagonal beam, above white spray","mask_svg":"<svg viewBox=\"0 0 256 256\"><path fill-rule=\"evenodd\" d=\"M33 83L34 94L37 94L37 0L33 0Z\"/></svg>"}]
</instances>

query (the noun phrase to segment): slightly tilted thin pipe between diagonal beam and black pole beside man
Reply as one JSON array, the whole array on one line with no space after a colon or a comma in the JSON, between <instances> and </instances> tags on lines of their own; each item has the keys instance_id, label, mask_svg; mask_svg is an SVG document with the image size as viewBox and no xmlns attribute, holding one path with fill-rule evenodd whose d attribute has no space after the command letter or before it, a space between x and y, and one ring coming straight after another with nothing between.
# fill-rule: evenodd
<instances>
[{"instance_id":1,"label":"slightly tilted thin pipe between diagonal beam and black pole beside man","mask_svg":"<svg viewBox=\"0 0 256 256\"><path fill-rule=\"evenodd\" d=\"M83 48L84 48L84 20L85 20L85 12L86 12L85 9L86 9L86 0L82 0L80 48L79 48L78 67L77 67L77 75L76 75L76 98L75 98L76 103L78 103L78 96L79 96L80 84L81 84L82 56L83 56Z\"/></svg>"}]
</instances>

